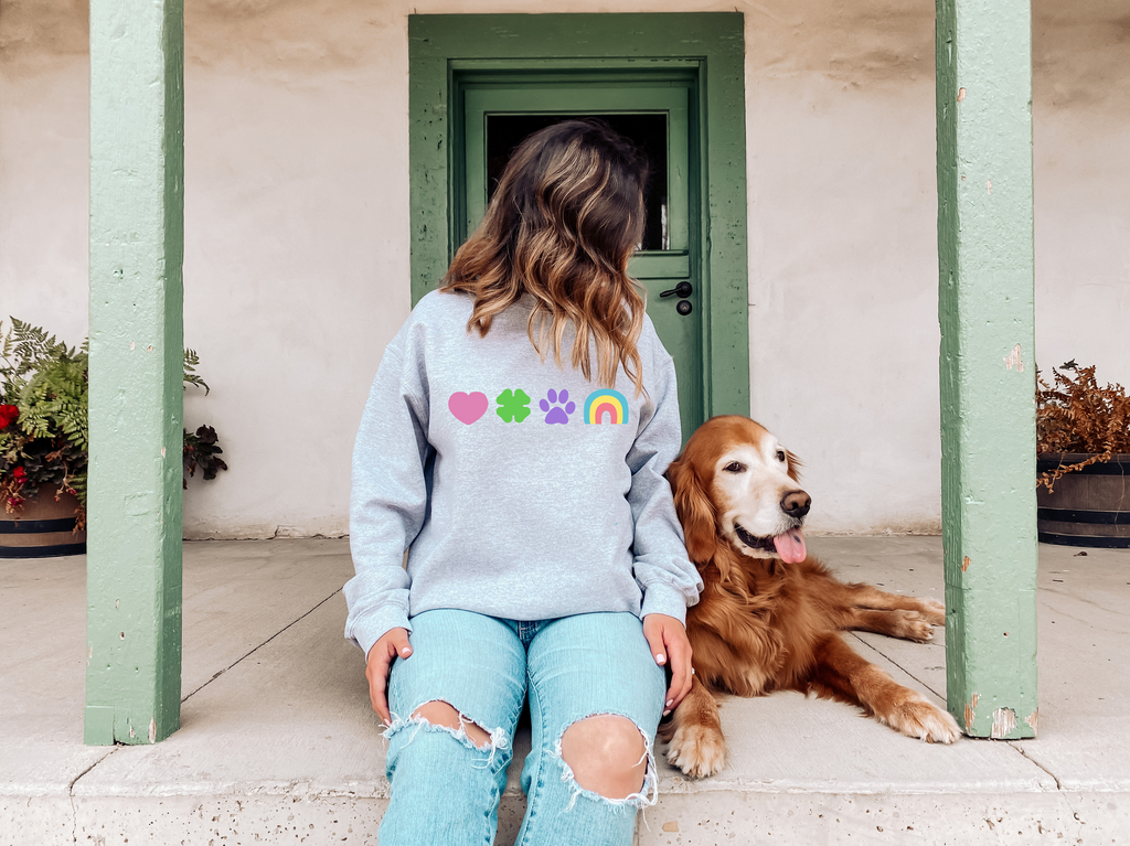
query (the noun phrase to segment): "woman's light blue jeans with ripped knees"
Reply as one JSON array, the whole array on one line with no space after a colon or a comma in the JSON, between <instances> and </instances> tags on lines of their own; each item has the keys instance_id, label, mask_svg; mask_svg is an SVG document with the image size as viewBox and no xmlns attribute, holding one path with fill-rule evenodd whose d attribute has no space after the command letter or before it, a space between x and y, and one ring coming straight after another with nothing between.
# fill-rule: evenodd
<instances>
[{"instance_id":1,"label":"woman's light blue jeans with ripped knees","mask_svg":"<svg viewBox=\"0 0 1130 846\"><path fill-rule=\"evenodd\" d=\"M411 657L394 662L389 682L392 794L381 846L494 841L527 690L532 749L522 769L528 801L518 846L631 844L637 809L655 802L652 748L666 692L640 619L592 613L522 622L442 609L411 622ZM488 732L489 748L476 747L462 729L414 719L431 701ZM562 759L566 729L600 715L631 719L644 738L644 783L626 799L582 790Z\"/></svg>"}]
</instances>

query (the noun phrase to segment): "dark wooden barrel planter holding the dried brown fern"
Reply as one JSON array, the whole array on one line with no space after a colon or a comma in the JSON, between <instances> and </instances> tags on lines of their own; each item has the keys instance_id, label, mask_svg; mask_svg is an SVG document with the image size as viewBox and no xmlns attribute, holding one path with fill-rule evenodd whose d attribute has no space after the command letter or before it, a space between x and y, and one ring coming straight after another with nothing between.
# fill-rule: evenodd
<instances>
[{"instance_id":1,"label":"dark wooden barrel planter holding the dried brown fern","mask_svg":"<svg viewBox=\"0 0 1130 846\"><path fill-rule=\"evenodd\" d=\"M1041 453L1036 472L1089 455ZM1054 492L1036 489L1036 527L1044 543L1130 549L1130 455L1115 455L1061 477Z\"/></svg>"}]
</instances>

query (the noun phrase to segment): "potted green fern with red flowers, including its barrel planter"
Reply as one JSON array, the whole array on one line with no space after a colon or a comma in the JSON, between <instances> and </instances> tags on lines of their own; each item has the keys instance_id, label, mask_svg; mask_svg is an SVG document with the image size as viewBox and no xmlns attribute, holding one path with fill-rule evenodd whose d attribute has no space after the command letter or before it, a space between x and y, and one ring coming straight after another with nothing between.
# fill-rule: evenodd
<instances>
[{"instance_id":1,"label":"potted green fern with red flowers, including its barrel planter","mask_svg":"<svg viewBox=\"0 0 1130 846\"><path fill-rule=\"evenodd\" d=\"M86 551L89 461L87 346L68 347L40 326L0 324L0 558ZM184 352L185 385L208 385ZM215 479L227 464L216 430L184 433L188 477Z\"/></svg>"}]
</instances>

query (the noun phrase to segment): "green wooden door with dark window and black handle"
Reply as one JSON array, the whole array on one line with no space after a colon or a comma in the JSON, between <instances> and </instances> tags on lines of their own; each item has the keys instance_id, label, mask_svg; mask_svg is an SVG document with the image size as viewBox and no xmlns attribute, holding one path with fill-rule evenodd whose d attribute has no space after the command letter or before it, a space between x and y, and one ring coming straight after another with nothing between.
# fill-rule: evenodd
<instances>
[{"instance_id":1,"label":"green wooden door with dark window and black handle","mask_svg":"<svg viewBox=\"0 0 1130 846\"><path fill-rule=\"evenodd\" d=\"M462 184L452 186L453 195L462 198L454 227L462 243L483 219L511 150L530 132L591 115L637 143L652 175L643 248L629 272L646 289L647 313L675 358L684 439L704 419L702 261L690 201L699 169L692 157L693 90L688 78L479 76L464 81L462 150L453 151L462 165L453 174ZM684 287L671 293L680 282Z\"/></svg>"}]
</instances>

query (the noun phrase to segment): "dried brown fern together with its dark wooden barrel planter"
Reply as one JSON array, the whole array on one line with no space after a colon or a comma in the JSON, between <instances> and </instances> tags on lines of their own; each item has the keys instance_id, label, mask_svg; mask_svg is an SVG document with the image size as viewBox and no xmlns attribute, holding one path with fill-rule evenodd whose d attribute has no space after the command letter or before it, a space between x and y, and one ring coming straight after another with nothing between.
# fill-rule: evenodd
<instances>
[{"instance_id":1,"label":"dried brown fern together with its dark wooden barrel planter","mask_svg":"<svg viewBox=\"0 0 1130 846\"><path fill-rule=\"evenodd\" d=\"M1130 396L1072 359L1036 382L1037 530L1045 543L1130 548Z\"/></svg>"}]
</instances>

